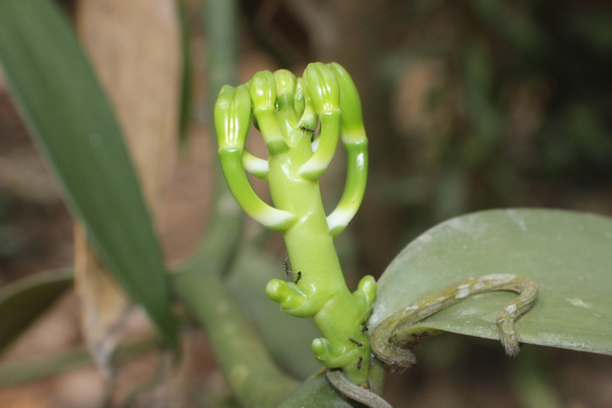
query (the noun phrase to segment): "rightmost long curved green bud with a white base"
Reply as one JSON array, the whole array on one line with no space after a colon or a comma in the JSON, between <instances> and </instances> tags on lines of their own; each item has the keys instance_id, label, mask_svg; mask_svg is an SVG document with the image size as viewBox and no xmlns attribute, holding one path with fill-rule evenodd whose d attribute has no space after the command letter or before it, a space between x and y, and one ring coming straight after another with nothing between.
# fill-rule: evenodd
<instances>
[{"instance_id":1,"label":"rightmost long curved green bud with a white base","mask_svg":"<svg viewBox=\"0 0 612 408\"><path fill-rule=\"evenodd\" d=\"M340 86L340 138L348 154L345 190L338 206L327 216L329 234L335 237L353 219L364 198L368 173L368 139L365 137L359 92L353 79L336 62L329 64L329 68Z\"/></svg>"}]
</instances>

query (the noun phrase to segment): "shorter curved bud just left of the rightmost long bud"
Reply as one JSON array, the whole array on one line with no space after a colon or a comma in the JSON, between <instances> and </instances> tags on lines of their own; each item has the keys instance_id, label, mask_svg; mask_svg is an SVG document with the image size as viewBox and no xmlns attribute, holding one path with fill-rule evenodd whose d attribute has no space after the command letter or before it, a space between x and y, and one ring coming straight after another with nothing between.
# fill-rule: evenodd
<instances>
[{"instance_id":1,"label":"shorter curved bud just left of the rightmost long bud","mask_svg":"<svg viewBox=\"0 0 612 408\"><path fill-rule=\"evenodd\" d=\"M323 176L334 157L340 133L340 86L334 72L322 62L304 70L304 91L321 119L321 135L315 153L299 169L307 180ZM310 97L310 98L308 98Z\"/></svg>"}]
</instances>

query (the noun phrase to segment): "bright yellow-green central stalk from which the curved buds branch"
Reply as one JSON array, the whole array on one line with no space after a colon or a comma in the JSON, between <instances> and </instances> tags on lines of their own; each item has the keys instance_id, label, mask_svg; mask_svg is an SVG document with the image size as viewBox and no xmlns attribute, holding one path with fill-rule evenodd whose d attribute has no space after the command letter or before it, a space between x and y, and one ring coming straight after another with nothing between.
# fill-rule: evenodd
<instances>
[{"instance_id":1,"label":"bright yellow-green central stalk from which the curved buds branch","mask_svg":"<svg viewBox=\"0 0 612 408\"><path fill-rule=\"evenodd\" d=\"M310 157L308 136L298 139L287 152L271 155L268 181L272 201L275 207L298 219L292 228L283 232L297 289L306 299L327 300L321 308L315 308L311 316L323 338L330 342L331 354L351 354L348 356L351 369L346 376L357 384L365 384L370 345L361 328L367 316L364 317L364 305L346 287L329 234L319 182L298 175L300 166Z\"/></svg>"}]
</instances>

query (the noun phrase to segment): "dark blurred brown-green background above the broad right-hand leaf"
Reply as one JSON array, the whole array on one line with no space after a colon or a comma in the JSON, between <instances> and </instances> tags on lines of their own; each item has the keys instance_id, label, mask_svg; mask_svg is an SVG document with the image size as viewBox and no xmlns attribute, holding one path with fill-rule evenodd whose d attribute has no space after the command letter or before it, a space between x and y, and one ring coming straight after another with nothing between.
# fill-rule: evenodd
<instances>
[{"instance_id":1,"label":"dark blurred brown-green background above the broad right-hand leaf","mask_svg":"<svg viewBox=\"0 0 612 408\"><path fill-rule=\"evenodd\" d=\"M354 222L364 272L461 213L611 212L609 2L241 4L243 51L261 46L298 71L337 61L359 84L371 145Z\"/></svg>"}]
</instances>

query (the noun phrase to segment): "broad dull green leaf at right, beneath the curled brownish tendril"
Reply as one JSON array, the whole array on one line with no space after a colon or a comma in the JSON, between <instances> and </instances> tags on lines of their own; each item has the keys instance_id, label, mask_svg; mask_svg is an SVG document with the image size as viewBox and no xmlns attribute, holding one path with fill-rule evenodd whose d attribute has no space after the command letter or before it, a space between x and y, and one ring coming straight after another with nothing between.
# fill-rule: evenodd
<instances>
[{"instance_id":1,"label":"broad dull green leaf at right, beneath the curled brownish tendril","mask_svg":"<svg viewBox=\"0 0 612 408\"><path fill-rule=\"evenodd\" d=\"M516 324L521 343L612 354L612 219L588 213L490 210L439 224L383 273L370 322L490 273L529 276L539 284L535 306ZM515 296L477 295L428 317L424 326L497 339L496 315Z\"/></svg>"}]
</instances>

